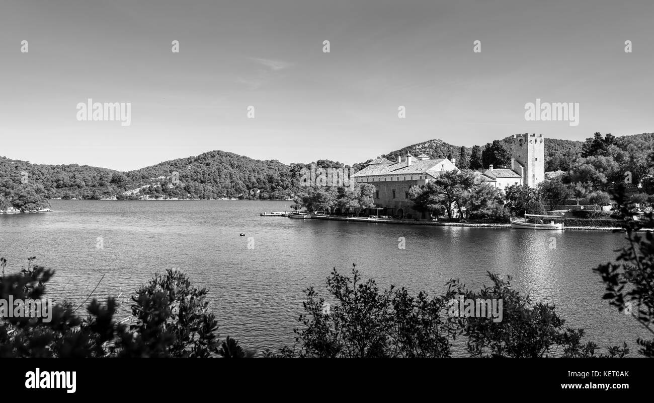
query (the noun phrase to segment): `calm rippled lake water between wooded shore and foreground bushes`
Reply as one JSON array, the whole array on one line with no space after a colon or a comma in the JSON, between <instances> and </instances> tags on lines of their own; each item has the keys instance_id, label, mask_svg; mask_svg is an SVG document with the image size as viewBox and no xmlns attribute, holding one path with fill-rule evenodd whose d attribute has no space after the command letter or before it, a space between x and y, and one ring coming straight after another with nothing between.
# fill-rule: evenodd
<instances>
[{"instance_id":1,"label":"calm rippled lake water between wooded shore and foreground bushes","mask_svg":"<svg viewBox=\"0 0 654 403\"><path fill-rule=\"evenodd\" d=\"M445 291L449 278L488 284L486 272L511 275L535 302L555 303L568 326L585 328L600 347L646 336L632 318L602 301L591 271L614 259L624 235L292 220L260 217L290 202L52 201L54 212L0 216L0 256L17 271L29 256L56 269L48 294L81 302L129 295L152 273L181 267L210 290L220 334L262 350L292 344L303 288L324 292L333 267L357 263L364 278L411 292ZM245 233L245 237L240 237ZM555 236L557 248L549 248ZM98 237L103 248L96 248ZM254 238L254 249L247 248ZM405 237L405 250L398 249ZM324 294L323 294L324 295Z\"/></svg>"}]
</instances>

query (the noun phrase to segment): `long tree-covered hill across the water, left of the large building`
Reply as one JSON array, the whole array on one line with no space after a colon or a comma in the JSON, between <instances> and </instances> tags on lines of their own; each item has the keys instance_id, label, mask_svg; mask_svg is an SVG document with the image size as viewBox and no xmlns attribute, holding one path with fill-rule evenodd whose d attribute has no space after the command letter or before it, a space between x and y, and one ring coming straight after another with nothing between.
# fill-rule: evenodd
<instances>
[{"instance_id":1,"label":"long tree-covered hill across the water, left of the large building","mask_svg":"<svg viewBox=\"0 0 654 403\"><path fill-rule=\"evenodd\" d=\"M293 178L297 183L296 171L303 166L259 161L225 151L209 151L129 172L78 164L31 164L0 157L0 202L5 201L5 207L14 204L14 191L26 189L45 199L288 199L298 190ZM0 210L5 208L0 206Z\"/></svg>"}]
</instances>

